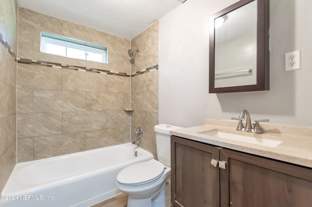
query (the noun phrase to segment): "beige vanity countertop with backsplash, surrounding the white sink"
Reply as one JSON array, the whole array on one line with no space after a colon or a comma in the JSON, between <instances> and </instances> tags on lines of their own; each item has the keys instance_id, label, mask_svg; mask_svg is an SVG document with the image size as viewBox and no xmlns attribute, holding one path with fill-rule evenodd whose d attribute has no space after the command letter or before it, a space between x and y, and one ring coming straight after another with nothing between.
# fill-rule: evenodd
<instances>
[{"instance_id":1,"label":"beige vanity countertop with backsplash, surrounding the white sink","mask_svg":"<svg viewBox=\"0 0 312 207\"><path fill-rule=\"evenodd\" d=\"M174 130L170 133L202 143L312 168L312 128L260 123L264 133L255 134L251 132L237 132L237 124L237 121L206 119L204 125ZM276 147L266 147L205 134L205 131L214 129L233 134L246 134L246 136L255 138L282 141L282 143Z\"/></svg>"}]
</instances>

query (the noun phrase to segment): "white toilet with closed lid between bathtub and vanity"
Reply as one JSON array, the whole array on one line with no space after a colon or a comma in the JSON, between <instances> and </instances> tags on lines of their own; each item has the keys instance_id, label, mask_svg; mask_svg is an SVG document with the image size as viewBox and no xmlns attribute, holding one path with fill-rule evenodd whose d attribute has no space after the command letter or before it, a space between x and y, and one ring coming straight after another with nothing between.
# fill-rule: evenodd
<instances>
[{"instance_id":1,"label":"white toilet with closed lid between bathtub and vanity","mask_svg":"<svg viewBox=\"0 0 312 207\"><path fill-rule=\"evenodd\" d=\"M117 188L127 194L127 207L170 206L170 131L180 129L167 124L154 127L158 160L133 164L117 175ZM144 142L144 140L143 140Z\"/></svg>"}]
</instances>

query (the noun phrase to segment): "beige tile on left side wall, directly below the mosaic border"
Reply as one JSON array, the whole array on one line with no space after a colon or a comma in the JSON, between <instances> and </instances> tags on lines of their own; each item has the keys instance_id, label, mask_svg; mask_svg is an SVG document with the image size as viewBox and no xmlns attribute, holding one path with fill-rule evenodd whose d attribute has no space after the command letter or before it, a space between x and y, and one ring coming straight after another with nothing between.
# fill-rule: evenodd
<instances>
[{"instance_id":1,"label":"beige tile on left side wall, directly below the mosaic border","mask_svg":"<svg viewBox=\"0 0 312 207\"><path fill-rule=\"evenodd\" d=\"M0 44L0 81L16 87L16 61Z\"/></svg>"}]
</instances>

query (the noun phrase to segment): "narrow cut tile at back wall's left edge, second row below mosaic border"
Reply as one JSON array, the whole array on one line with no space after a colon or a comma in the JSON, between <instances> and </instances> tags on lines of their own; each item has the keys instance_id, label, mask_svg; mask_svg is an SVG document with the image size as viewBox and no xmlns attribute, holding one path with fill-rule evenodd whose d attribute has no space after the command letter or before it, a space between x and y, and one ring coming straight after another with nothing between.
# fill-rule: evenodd
<instances>
[{"instance_id":1,"label":"narrow cut tile at back wall's left edge, second row below mosaic border","mask_svg":"<svg viewBox=\"0 0 312 207\"><path fill-rule=\"evenodd\" d=\"M17 113L34 112L34 90L17 89Z\"/></svg>"}]
</instances>

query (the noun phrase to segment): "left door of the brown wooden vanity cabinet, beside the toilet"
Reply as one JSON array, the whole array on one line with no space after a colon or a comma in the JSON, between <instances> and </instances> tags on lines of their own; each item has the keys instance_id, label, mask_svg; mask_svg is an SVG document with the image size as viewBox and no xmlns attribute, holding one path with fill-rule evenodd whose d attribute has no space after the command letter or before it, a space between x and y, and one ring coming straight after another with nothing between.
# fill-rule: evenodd
<instances>
[{"instance_id":1,"label":"left door of the brown wooden vanity cabinet, beside the toilet","mask_svg":"<svg viewBox=\"0 0 312 207\"><path fill-rule=\"evenodd\" d=\"M219 207L219 148L171 136L171 203L174 207Z\"/></svg>"}]
</instances>

